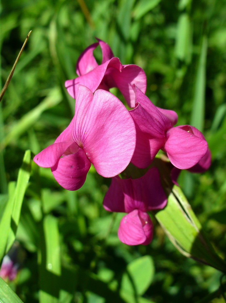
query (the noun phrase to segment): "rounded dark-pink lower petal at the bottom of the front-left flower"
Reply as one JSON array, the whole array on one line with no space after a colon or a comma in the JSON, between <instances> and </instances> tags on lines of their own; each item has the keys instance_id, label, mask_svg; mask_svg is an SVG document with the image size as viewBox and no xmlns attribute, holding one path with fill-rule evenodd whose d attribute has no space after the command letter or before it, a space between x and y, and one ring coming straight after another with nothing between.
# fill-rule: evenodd
<instances>
[{"instance_id":1,"label":"rounded dark-pink lower petal at the bottom of the front-left flower","mask_svg":"<svg viewBox=\"0 0 226 303\"><path fill-rule=\"evenodd\" d=\"M76 154L64 156L51 168L56 181L65 189L77 190L85 182L91 163L79 148Z\"/></svg>"}]
</instances>

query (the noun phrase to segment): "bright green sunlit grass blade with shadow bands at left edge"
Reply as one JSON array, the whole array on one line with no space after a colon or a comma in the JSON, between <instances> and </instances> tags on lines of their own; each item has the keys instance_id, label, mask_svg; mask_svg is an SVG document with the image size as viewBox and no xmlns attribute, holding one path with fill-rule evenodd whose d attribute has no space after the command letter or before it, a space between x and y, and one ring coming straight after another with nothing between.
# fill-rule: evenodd
<instances>
[{"instance_id":1,"label":"bright green sunlit grass blade with shadow bands at left edge","mask_svg":"<svg viewBox=\"0 0 226 303\"><path fill-rule=\"evenodd\" d=\"M14 204L11 218L11 228L8 236L7 251L12 246L16 231L19 224L20 212L22 207L22 202L24 199L25 191L28 186L28 181L31 175L31 151L25 151L23 158L22 167L19 169L18 178L16 183L16 189L14 194Z\"/></svg>"}]
</instances>

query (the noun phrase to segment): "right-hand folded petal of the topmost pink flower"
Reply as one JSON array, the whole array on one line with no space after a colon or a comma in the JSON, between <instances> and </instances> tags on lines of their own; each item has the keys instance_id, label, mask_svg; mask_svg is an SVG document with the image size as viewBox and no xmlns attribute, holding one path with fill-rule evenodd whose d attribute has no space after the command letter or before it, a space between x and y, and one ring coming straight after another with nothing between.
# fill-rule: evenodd
<instances>
[{"instance_id":1,"label":"right-hand folded petal of the topmost pink flower","mask_svg":"<svg viewBox=\"0 0 226 303\"><path fill-rule=\"evenodd\" d=\"M134 64L123 65L121 72L115 69L111 72L111 77L114 79L115 86L123 94L128 106L135 107L135 92L132 85L135 84L145 93L147 78L144 70Z\"/></svg>"}]
</instances>

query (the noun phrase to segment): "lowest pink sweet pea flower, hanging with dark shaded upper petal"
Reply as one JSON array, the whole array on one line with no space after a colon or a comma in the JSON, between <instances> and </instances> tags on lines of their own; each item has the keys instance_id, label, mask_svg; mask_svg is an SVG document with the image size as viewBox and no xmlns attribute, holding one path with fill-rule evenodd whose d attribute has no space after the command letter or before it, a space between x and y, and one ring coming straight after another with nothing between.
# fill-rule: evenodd
<instances>
[{"instance_id":1,"label":"lowest pink sweet pea flower, hanging with dark shaded upper petal","mask_svg":"<svg viewBox=\"0 0 226 303\"><path fill-rule=\"evenodd\" d=\"M127 245L148 245L153 225L147 211L162 209L167 198L156 167L137 179L112 178L103 206L107 211L126 212L121 219L118 237Z\"/></svg>"}]
</instances>

